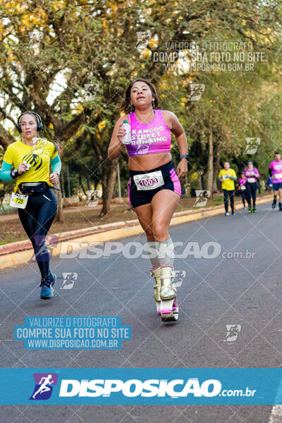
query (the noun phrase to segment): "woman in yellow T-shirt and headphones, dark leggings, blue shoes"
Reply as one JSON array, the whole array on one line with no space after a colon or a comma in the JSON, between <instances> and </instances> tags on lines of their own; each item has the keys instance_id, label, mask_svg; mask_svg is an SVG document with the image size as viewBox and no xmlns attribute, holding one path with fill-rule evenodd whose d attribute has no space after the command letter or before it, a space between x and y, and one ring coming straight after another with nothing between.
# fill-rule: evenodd
<instances>
[{"instance_id":1,"label":"woman in yellow T-shirt and headphones, dark leggings, blue shoes","mask_svg":"<svg viewBox=\"0 0 282 423\"><path fill-rule=\"evenodd\" d=\"M45 237L56 216L56 195L51 187L59 180L61 160L54 142L39 137L42 129L42 120L35 112L25 111L19 116L22 137L6 149L0 178L16 179L11 206L18 208L20 221L32 242L41 274L40 298L47 300L54 296L56 275L49 270Z\"/></svg>"}]
</instances>

